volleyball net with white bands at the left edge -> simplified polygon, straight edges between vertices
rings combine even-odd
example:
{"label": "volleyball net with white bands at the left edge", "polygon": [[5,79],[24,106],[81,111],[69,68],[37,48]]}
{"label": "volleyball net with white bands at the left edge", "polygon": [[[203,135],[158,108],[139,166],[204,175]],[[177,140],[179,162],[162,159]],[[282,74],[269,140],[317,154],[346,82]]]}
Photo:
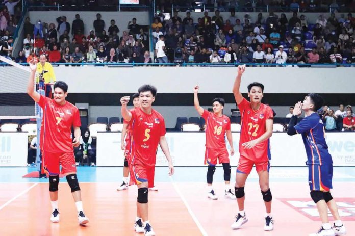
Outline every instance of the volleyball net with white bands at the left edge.
{"label": "volleyball net with white bands at the left edge", "polygon": [[0,62],[0,119],[40,118],[38,105],[27,94],[30,68],[3,56],[0,56]]}

